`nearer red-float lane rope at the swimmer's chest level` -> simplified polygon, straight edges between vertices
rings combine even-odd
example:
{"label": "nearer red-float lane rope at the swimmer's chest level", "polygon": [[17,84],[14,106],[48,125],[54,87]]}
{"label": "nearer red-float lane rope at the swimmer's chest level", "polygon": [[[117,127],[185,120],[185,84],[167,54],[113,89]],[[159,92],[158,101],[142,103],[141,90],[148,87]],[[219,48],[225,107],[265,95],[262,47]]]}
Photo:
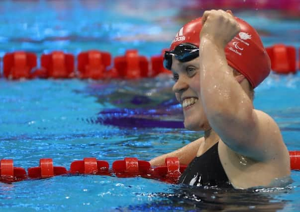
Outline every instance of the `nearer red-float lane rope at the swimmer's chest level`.
{"label": "nearer red-float lane rope at the swimmer's chest level", "polygon": [[[300,171],[300,151],[290,151],[291,170]],[[41,158],[38,167],[14,167],[12,159],[0,160],[0,182],[12,183],[26,179],[43,179],[58,175],[107,175],[115,177],[144,177],[176,184],[187,165],[181,165],[177,157],[168,157],[165,165],[152,167],[148,161],[126,157],[112,163],[111,169],[105,160],[86,157],[73,161],[68,171],[63,166],[54,166],[52,158]]]}

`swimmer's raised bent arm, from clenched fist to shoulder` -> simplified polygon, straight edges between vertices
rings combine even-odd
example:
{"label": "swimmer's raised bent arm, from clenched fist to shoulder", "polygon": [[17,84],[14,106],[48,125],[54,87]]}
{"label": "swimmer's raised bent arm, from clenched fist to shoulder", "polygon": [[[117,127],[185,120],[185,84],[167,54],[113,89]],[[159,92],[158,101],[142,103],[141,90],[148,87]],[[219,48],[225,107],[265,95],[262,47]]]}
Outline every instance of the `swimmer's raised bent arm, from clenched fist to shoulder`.
{"label": "swimmer's raised bent arm, from clenched fist to shoulder", "polygon": [[233,76],[225,58],[226,44],[239,31],[231,13],[204,12],[200,33],[201,100],[210,126],[229,148],[255,160],[268,160],[284,146],[279,128],[271,117],[254,110],[239,84],[243,80]]}

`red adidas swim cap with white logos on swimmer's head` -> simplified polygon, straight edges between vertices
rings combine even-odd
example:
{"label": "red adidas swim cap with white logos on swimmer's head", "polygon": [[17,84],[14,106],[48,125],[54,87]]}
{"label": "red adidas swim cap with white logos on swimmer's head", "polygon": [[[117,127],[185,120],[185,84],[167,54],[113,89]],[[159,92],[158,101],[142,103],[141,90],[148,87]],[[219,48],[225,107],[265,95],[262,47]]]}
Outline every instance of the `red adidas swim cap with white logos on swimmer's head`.
{"label": "red adidas swim cap with white logos on swimmer's head", "polygon": [[[241,30],[225,47],[227,63],[256,87],[269,75],[271,61],[256,30],[246,21],[237,17],[235,19]],[[182,43],[192,43],[199,47],[201,28],[201,18],[185,24],[176,34],[170,51]]]}

